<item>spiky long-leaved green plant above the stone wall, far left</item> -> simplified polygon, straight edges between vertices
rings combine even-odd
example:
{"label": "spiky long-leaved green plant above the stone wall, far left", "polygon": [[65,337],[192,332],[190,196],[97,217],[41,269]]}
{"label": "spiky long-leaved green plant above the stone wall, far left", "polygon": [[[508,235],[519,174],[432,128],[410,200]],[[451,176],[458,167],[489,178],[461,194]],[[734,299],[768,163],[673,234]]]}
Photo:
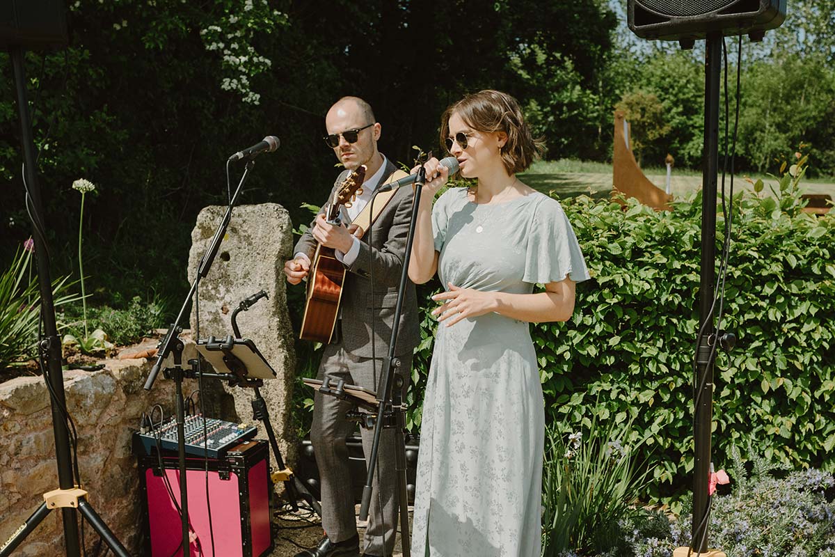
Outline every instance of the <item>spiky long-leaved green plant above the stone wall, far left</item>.
{"label": "spiky long-leaved green plant above the stone wall, far left", "polygon": [[[36,355],[41,295],[31,268],[32,252],[19,250],[0,275],[0,370],[20,367]],[[68,277],[53,281],[53,303],[78,301],[68,294]]]}

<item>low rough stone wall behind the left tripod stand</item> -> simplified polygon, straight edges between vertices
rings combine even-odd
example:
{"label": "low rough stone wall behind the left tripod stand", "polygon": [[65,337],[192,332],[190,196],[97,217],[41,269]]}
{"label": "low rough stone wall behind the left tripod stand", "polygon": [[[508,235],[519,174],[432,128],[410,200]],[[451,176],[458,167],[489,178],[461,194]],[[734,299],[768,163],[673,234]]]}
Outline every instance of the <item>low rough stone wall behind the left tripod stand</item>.
{"label": "low rough stone wall behind the left tripod stand", "polygon": [[[195,357],[187,343],[184,357]],[[89,503],[129,550],[139,555],[139,474],[131,436],[154,403],[166,418],[175,414],[175,383],[160,372],[147,392],[151,362],[105,360],[99,372],[64,372],[67,408],[78,430],[78,468]],[[185,381],[185,396],[195,382]],[[42,377],[17,377],[0,383],[0,543],[58,489],[52,412]],[[79,515],[79,523],[82,521]],[[98,542],[84,526],[88,549]],[[61,513],[53,511],[15,551],[15,556],[64,554]]]}

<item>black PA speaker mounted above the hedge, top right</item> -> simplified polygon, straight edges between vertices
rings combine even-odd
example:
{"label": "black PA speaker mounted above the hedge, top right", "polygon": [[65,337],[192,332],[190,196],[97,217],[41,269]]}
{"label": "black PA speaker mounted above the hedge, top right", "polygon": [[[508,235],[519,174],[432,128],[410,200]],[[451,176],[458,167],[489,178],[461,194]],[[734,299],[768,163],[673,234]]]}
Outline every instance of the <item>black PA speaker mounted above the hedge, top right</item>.
{"label": "black PA speaker mounted above the hedge, top right", "polygon": [[627,0],[626,18],[641,38],[687,42],[722,33],[759,40],[786,18],[786,0]]}

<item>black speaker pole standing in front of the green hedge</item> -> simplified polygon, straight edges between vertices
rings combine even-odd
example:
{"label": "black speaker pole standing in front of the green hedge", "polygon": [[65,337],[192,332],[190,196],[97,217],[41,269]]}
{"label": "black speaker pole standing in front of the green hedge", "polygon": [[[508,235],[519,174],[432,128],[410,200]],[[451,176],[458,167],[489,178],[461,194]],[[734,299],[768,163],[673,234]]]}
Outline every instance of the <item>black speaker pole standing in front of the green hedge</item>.
{"label": "black speaker pole standing in front of the green hedge", "polygon": [[716,175],[719,172],[719,78],[722,33],[709,33],[705,50],[705,143],[702,153],[701,285],[699,331],[696,352],[693,442],[693,525],[691,549],[707,552],[711,473],[711,423],[713,421],[713,357],[716,342],[713,324],[713,288],[716,281]]}

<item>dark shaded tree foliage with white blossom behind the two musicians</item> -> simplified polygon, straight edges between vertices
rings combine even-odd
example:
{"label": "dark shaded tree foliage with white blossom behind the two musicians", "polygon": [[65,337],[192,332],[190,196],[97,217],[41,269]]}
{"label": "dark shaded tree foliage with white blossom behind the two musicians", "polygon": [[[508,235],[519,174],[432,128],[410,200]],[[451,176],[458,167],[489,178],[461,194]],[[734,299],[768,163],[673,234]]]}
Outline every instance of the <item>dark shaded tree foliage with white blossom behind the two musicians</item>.
{"label": "dark shaded tree foliage with white blossom behind the two musicians", "polygon": [[[551,142],[555,156],[593,153],[605,111],[584,99],[599,87],[614,25],[599,0],[76,0],[68,48],[26,57],[53,262],[73,269],[69,185],[87,178],[100,187],[84,215],[85,262],[103,285],[94,297],[147,299],[150,288],[179,298],[195,217],[227,200],[225,158],[279,136],[281,149],[257,160],[241,202],[278,202],[298,221],[301,203],[321,203],[332,183],[324,114],[346,94],[372,104],[393,160],[411,162],[414,144],[441,154],[443,109],[488,87],[541,107],[546,137],[595,132]],[[0,219],[4,236],[23,241],[30,231],[5,53],[0,68],[0,175],[10,183]],[[563,93],[564,84],[573,89]],[[240,168],[232,170],[234,187]],[[4,242],[0,256],[12,250]]]}

